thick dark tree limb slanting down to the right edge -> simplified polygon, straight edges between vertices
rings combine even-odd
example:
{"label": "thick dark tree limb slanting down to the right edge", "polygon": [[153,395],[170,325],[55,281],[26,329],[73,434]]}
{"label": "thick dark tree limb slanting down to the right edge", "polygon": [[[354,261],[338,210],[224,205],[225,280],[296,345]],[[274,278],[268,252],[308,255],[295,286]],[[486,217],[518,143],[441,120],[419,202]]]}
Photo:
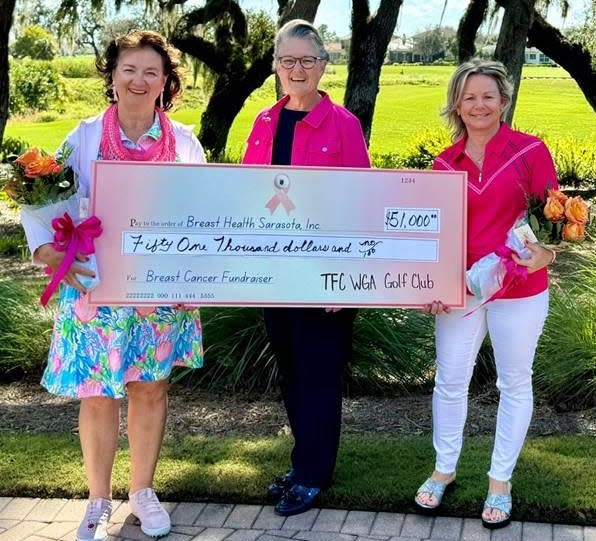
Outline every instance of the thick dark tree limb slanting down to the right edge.
{"label": "thick dark tree limb slanting down to the right edge", "polygon": [[534,13],[534,24],[528,34],[530,45],[569,72],[596,112],[596,59],[579,43],[570,42],[559,30]]}

